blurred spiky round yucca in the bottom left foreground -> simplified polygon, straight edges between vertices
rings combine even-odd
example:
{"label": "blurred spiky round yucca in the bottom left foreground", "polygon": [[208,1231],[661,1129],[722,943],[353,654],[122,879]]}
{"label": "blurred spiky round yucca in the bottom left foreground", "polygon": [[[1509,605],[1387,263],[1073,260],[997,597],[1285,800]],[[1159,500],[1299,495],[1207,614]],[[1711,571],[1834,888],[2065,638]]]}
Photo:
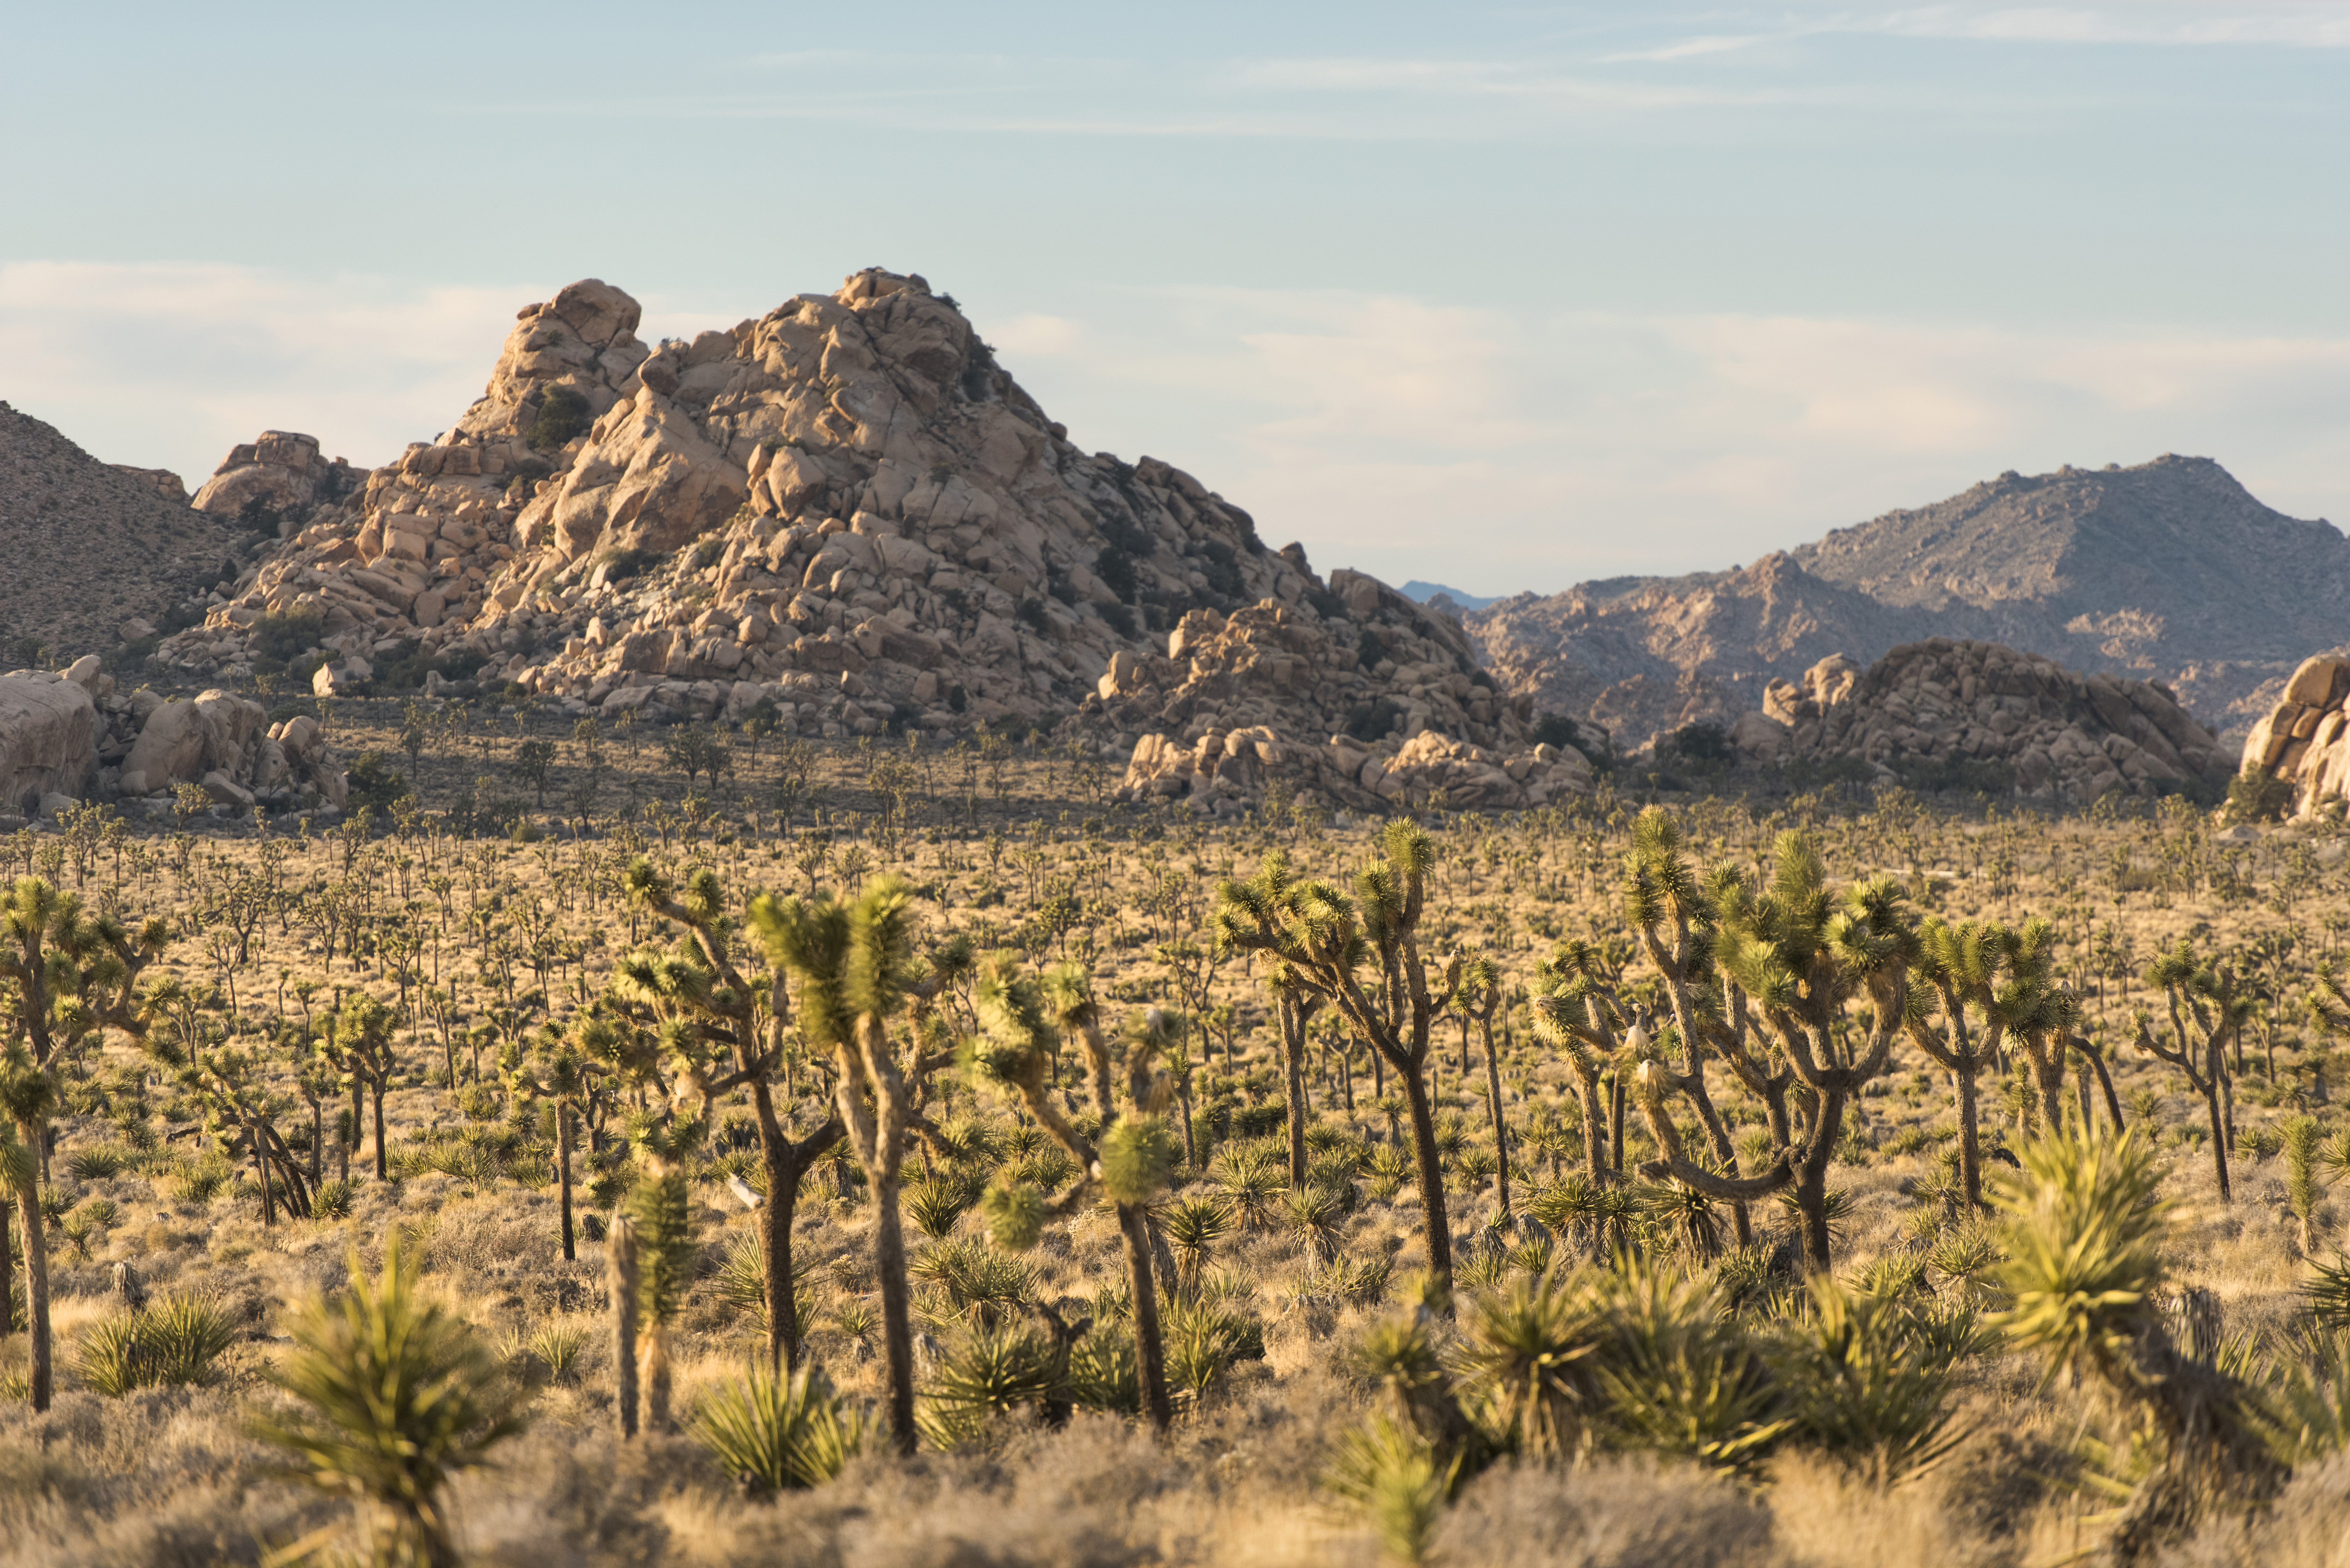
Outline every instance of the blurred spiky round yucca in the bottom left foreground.
{"label": "blurred spiky round yucca in the bottom left foreground", "polygon": [[270,1382],[296,1406],[258,1415],[254,1436],[294,1479],[367,1507],[378,1561],[456,1568],[442,1488],[522,1432],[517,1394],[472,1331],[418,1295],[397,1232],[378,1276],[357,1253],[350,1276],[289,1324],[296,1349]]}

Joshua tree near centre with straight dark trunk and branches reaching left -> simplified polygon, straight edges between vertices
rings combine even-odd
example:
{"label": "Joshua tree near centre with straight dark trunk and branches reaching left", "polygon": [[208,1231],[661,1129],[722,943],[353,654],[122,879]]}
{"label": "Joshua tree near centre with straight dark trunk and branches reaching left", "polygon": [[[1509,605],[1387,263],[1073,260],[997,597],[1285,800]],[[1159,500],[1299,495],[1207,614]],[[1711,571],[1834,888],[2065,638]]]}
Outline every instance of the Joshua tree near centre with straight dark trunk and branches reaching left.
{"label": "Joshua tree near centre with straight dark trunk and branches reaching left", "polygon": [[1410,818],[1386,825],[1384,856],[1354,877],[1354,898],[1328,882],[1292,882],[1288,863],[1267,856],[1250,882],[1217,889],[1217,938],[1243,952],[1288,964],[1297,980],[1330,999],[1347,1025],[1394,1067],[1412,1117],[1419,1204],[1429,1227],[1429,1272],[1452,1279],[1445,1178],[1429,1107],[1429,1030],[1452,999],[1462,961],[1431,976],[1419,957],[1419,914],[1436,846]]}

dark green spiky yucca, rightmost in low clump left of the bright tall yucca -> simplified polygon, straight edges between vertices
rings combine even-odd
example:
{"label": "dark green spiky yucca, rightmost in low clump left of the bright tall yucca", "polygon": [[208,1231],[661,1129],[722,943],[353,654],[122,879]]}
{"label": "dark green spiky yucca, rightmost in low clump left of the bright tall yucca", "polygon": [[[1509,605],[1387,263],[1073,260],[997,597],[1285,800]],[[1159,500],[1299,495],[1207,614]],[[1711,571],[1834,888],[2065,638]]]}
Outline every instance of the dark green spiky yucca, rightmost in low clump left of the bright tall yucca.
{"label": "dark green spiky yucca, rightmost in low clump left of the bright tall yucca", "polygon": [[1793,1436],[1875,1488],[1934,1467],[1962,1436],[1948,1410],[1955,1363],[1920,1347],[1899,1298],[1826,1274],[1810,1288],[1812,1312],[1777,1349]]}

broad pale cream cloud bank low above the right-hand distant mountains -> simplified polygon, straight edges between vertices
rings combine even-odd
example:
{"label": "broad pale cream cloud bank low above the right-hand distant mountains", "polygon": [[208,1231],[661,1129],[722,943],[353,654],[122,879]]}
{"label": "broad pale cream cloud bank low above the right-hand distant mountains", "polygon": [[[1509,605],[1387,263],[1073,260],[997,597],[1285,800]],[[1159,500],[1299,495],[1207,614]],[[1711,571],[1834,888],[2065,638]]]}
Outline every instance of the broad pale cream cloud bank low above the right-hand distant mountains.
{"label": "broad pale cream cloud bank low above the right-hand distant mountains", "polygon": [[1328,292],[1184,292],[1142,315],[1170,331],[1088,322],[1074,353],[1013,369],[1081,440],[1149,440],[1321,564],[1478,592],[1727,567],[2005,468],[2169,449],[2301,515],[2350,498],[2331,414],[2350,339]]}

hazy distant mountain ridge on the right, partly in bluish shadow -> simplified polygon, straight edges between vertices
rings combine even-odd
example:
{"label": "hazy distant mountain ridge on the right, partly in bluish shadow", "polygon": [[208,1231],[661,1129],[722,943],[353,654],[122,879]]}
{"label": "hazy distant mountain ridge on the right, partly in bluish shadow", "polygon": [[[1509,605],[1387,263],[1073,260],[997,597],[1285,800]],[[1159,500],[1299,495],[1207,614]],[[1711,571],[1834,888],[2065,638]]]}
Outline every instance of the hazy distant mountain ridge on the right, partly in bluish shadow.
{"label": "hazy distant mountain ridge on the right, partly in bluish shadow", "polygon": [[1619,745],[1758,710],[1828,654],[2002,642],[2162,679],[2240,733],[2350,625],[2350,541],[2254,501],[2209,458],[1998,480],[1753,567],[1612,578],[1466,616],[1502,686]]}

